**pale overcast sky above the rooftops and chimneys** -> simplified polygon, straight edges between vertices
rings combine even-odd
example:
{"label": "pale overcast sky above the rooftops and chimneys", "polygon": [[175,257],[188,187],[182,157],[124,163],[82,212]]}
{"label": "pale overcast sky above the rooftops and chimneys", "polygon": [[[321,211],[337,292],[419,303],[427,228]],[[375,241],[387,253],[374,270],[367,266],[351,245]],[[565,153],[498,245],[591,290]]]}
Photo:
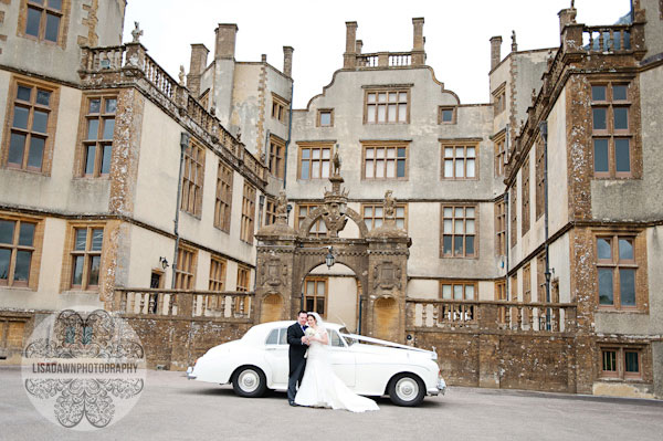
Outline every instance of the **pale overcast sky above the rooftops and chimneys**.
{"label": "pale overcast sky above the rooftops and chimneys", "polygon": [[[261,54],[283,69],[283,46],[295,49],[294,107],[303,108],[333,73],[343,67],[346,21],[357,21],[365,53],[410,51],[412,18],[423,17],[427,64],[462,104],[488,101],[490,42],[502,35],[502,56],[516,31],[518,50],[559,46],[557,12],[570,0],[128,0],[124,41],[131,41],[134,21],[140,42],[177,78],[189,72],[191,43],[214,55],[218,23],[239,28],[235,59],[260,61]],[[577,21],[612,24],[630,11],[630,0],[576,0]]]}

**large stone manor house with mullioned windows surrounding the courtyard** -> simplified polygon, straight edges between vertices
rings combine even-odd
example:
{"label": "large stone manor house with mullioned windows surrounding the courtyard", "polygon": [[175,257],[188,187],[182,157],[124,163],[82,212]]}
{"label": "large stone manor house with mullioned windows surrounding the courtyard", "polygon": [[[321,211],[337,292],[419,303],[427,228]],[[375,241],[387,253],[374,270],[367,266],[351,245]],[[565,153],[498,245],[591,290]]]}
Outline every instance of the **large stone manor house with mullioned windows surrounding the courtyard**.
{"label": "large stone manor house with mullioned windows surrounding the courtyard", "polygon": [[238,61],[235,24],[173,78],[125,0],[0,1],[0,364],[67,307],[170,369],[305,307],[453,385],[662,398],[663,2],[632,3],[561,10],[556,48],[493,36],[480,104],[422,18],[402,52],[347,22],[293,109],[293,48]]}

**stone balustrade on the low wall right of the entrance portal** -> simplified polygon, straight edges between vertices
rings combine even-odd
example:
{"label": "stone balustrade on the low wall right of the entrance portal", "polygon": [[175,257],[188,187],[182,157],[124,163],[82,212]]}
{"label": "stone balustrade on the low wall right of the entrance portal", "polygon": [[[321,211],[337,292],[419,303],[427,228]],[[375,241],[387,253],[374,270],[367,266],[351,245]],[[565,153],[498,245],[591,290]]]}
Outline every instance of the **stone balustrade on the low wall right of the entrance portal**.
{"label": "stone balustrade on the low wall right of the entrance portal", "polygon": [[576,305],[498,301],[407,300],[407,326],[568,332],[576,323]]}

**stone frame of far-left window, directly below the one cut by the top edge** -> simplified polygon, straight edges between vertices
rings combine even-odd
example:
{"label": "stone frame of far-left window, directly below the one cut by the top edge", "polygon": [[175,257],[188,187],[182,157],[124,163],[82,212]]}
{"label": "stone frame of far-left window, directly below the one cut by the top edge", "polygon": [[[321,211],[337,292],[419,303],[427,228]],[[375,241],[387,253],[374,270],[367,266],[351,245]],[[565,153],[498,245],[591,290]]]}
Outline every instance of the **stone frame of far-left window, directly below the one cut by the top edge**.
{"label": "stone frame of far-left window, directly below the one cut by the top edge", "polygon": [[[18,91],[19,86],[29,87],[31,90],[30,103],[18,99]],[[36,105],[36,90],[42,90],[44,92],[50,93],[49,107],[43,105]],[[33,78],[22,76],[22,75],[12,75],[10,81],[10,86],[8,91],[7,98],[7,111],[6,111],[6,122],[4,122],[4,134],[2,136],[2,147],[0,149],[0,159],[1,167],[11,170],[18,170],[23,172],[31,172],[44,176],[51,176],[51,167],[53,161],[53,146],[55,143],[55,128],[57,125],[57,109],[60,104],[60,87],[56,84],[35,81]],[[33,98],[34,96],[34,98]],[[12,98],[13,97],[13,98]],[[29,116],[28,116],[28,128],[13,127],[14,119],[14,109],[15,107],[28,107]],[[33,132],[32,123],[34,109],[39,108],[43,112],[48,112],[48,123],[46,123],[46,132]],[[13,132],[19,132],[21,134],[25,134],[25,140],[23,144],[23,158],[21,160],[21,165],[18,166],[14,162],[9,162],[9,154],[10,154],[10,143],[11,143],[11,134]],[[29,149],[30,141],[32,139],[32,134],[36,134],[39,138],[45,138],[44,147],[42,151],[41,158],[41,169],[36,169],[34,167],[28,166],[29,158]],[[25,149],[28,147],[28,149]]]}

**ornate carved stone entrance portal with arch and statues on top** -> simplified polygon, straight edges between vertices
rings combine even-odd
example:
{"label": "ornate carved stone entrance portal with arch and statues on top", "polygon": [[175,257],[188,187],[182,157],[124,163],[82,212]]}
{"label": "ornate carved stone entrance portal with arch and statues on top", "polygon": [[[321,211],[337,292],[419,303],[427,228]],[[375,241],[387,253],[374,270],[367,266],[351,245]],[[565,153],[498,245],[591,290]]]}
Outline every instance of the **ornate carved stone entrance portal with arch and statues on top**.
{"label": "ornate carved stone entrance portal with arch and statues on top", "polygon": [[[255,313],[261,322],[293,318],[304,304],[304,279],[325,263],[332,246],[335,262],[351,269],[361,286],[358,330],[362,335],[403,342],[408,249],[412,241],[396,225],[396,200],[387,191],[385,222],[369,232],[361,216],[347,206],[348,191],[341,188],[339,165],[335,165],[329,181],[332,191],[325,191],[324,204],[308,213],[298,231],[287,224],[287,199],[282,191],[276,222],[257,232]],[[327,228],[325,238],[309,235],[318,219]],[[357,224],[359,238],[338,237],[348,219]],[[335,322],[334,317],[329,321]]]}

